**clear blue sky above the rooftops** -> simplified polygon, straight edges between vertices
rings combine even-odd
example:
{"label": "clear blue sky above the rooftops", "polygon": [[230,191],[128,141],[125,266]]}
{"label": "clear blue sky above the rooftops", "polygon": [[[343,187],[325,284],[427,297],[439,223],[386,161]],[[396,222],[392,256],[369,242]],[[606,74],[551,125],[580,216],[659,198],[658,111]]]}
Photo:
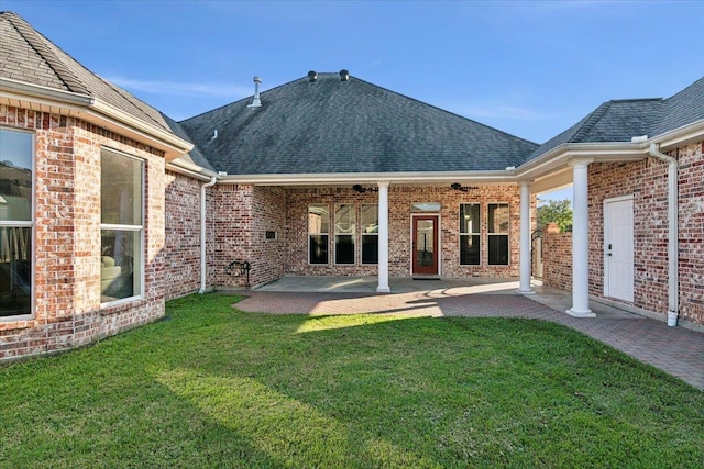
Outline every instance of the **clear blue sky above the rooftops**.
{"label": "clear blue sky above the rooftops", "polygon": [[704,76],[700,1],[15,1],[96,74],[182,120],[308,70],[542,143],[609,99]]}

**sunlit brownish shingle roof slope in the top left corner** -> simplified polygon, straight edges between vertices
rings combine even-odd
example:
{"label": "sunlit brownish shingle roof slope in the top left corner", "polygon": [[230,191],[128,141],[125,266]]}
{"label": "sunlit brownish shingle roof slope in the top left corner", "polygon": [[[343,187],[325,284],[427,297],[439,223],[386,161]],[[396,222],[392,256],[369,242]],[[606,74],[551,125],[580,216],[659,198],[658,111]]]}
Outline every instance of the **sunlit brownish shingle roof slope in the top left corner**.
{"label": "sunlit brownish shingle roof slope in the top left corner", "polygon": [[90,96],[170,130],[156,109],[88,70],[12,12],[0,12],[0,77]]}

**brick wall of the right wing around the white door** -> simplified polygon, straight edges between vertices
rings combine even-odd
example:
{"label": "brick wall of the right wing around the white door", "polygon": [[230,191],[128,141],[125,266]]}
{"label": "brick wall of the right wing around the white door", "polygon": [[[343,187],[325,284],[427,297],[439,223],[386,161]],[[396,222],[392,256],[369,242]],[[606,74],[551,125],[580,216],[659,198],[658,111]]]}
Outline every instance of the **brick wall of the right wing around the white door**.
{"label": "brick wall of the right wing around the white door", "polygon": [[[704,324],[704,157],[700,142],[671,152],[679,160],[680,314]],[[668,311],[668,164],[590,165],[590,294],[604,295],[604,200],[634,196],[634,305]]]}

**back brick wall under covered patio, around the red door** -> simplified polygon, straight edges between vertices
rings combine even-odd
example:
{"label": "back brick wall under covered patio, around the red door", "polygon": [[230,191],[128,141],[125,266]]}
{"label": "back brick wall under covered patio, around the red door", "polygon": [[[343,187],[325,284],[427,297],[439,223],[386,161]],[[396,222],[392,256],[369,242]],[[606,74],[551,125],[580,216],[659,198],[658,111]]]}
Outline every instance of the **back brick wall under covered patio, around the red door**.
{"label": "back brick wall under covered patio, around the red door", "polygon": [[[334,235],[330,234],[330,264],[308,265],[308,205],[310,203],[328,203],[333,210],[336,203],[353,203],[356,205],[356,220],[360,226],[362,203],[377,203],[378,194],[374,192],[358,193],[352,188],[320,187],[312,189],[290,189],[288,191],[288,230],[286,273],[305,276],[374,276],[376,266],[334,265]],[[444,277],[516,277],[518,276],[519,235],[520,235],[520,189],[518,186],[482,186],[469,192],[460,192],[449,187],[398,187],[392,186],[388,194],[389,203],[389,275],[392,277],[410,276],[410,205],[413,202],[440,202],[440,268]],[[459,215],[460,203],[480,203],[482,210],[482,264],[480,266],[461,266],[459,253]],[[510,264],[508,266],[488,266],[487,259],[487,222],[486,205],[488,203],[508,203],[512,227],[509,232]],[[535,221],[535,198],[531,205]],[[359,227],[361,230],[361,226]],[[358,233],[358,243],[361,231]],[[359,247],[358,247],[359,252]]]}

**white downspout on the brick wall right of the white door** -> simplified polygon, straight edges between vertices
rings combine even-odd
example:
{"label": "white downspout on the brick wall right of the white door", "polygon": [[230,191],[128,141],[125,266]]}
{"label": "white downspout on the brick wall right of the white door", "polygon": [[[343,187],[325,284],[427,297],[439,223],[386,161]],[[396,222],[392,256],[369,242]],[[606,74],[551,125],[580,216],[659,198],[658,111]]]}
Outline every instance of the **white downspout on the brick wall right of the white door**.
{"label": "white downspout on the brick wall right of the white door", "polygon": [[650,144],[650,156],[668,161],[668,325],[678,325],[680,266],[678,239],[678,160],[660,152],[660,144]]}

